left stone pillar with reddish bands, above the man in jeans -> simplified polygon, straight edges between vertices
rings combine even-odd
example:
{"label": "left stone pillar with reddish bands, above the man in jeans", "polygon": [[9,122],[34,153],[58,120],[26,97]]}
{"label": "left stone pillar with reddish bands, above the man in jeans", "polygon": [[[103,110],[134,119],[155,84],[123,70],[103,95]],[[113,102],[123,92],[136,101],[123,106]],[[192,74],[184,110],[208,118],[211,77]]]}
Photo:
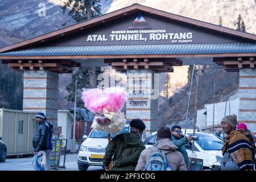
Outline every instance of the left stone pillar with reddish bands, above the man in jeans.
{"label": "left stone pillar with reddish bands, above the man in jeans", "polygon": [[23,110],[42,112],[57,131],[59,74],[24,71]]}

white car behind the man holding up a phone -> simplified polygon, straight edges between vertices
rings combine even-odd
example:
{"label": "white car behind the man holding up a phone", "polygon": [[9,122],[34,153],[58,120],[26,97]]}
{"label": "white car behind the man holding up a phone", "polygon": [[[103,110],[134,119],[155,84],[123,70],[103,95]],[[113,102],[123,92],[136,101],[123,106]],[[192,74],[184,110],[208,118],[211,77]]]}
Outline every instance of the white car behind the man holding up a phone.
{"label": "white car behind the man holding up a phone", "polygon": [[[186,136],[193,133],[187,133]],[[222,145],[223,141],[214,137],[209,133],[196,132],[199,137],[195,140],[194,153],[192,154],[192,146],[185,144],[189,158],[203,159],[204,169],[214,165],[220,165],[222,159]],[[156,142],[156,132],[152,133],[150,137],[144,140],[146,148],[152,146]]]}

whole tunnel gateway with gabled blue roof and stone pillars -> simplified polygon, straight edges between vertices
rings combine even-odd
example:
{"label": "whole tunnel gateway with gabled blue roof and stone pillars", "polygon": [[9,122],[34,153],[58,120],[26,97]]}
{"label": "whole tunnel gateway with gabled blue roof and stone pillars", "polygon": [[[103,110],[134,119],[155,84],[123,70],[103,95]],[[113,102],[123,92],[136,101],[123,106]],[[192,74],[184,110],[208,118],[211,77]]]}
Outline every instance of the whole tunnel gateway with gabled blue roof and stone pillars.
{"label": "whole tunnel gateway with gabled blue roof and stone pillars", "polygon": [[158,73],[217,64],[240,72],[238,119],[256,132],[256,35],[246,32],[133,4],[2,47],[0,59],[24,72],[23,110],[44,111],[56,126],[58,73],[80,66],[125,72],[126,119],[141,118],[147,135],[158,129]]}

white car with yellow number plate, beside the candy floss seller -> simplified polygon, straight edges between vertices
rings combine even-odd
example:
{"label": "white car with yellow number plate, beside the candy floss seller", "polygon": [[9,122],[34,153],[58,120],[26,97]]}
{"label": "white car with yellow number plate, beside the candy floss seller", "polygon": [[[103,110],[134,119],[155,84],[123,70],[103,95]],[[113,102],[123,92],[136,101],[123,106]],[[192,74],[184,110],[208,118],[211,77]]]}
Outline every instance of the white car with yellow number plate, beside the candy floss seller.
{"label": "white car with yellow number plate, beside the candy floss seller", "polygon": [[[129,129],[129,125],[126,125],[119,134],[129,132]],[[142,141],[146,139],[145,134],[143,133]],[[114,136],[114,134],[110,135],[111,138],[114,138]],[[93,129],[89,137],[85,138],[80,146],[77,160],[80,171],[86,171],[89,166],[103,166],[105,148],[108,145],[108,134],[106,131],[96,131]]]}

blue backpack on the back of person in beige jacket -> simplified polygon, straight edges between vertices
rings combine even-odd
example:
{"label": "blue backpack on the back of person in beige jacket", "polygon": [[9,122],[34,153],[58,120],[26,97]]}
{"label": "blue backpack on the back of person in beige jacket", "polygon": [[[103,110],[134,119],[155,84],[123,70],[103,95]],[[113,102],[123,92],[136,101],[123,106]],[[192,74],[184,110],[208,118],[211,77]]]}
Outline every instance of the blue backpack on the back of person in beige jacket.
{"label": "blue backpack on the back of person in beige jacket", "polygon": [[158,150],[152,152],[147,160],[146,165],[144,166],[144,171],[166,171],[166,154],[168,154],[169,152],[171,151],[163,152],[161,150]]}

